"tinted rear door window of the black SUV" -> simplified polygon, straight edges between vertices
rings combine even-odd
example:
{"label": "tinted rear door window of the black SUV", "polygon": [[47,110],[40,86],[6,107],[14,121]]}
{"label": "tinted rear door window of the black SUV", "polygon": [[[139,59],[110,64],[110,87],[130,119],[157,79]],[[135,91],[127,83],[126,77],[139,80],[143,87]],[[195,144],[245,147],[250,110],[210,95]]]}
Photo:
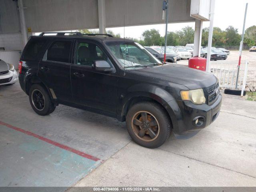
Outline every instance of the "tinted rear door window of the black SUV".
{"label": "tinted rear door window of the black SUV", "polygon": [[71,40],[54,41],[46,50],[43,60],[69,63],[71,44]]}

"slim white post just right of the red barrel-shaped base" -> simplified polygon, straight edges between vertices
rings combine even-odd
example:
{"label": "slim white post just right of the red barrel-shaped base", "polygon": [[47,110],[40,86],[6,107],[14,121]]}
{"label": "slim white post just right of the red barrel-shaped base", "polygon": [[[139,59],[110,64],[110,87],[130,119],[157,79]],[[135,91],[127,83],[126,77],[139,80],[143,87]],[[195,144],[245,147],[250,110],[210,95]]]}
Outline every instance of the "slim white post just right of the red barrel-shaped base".
{"label": "slim white post just right of the red barrel-shaped base", "polygon": [[208,36],[208,48],[207,48],[207,61],[206,61],[206,72],[211,72],[211,52],[212,52],[212,33],[213,33],[213,19],[214,19],[215,0],[211,0],[211,11],[210,11],[210,27]]}

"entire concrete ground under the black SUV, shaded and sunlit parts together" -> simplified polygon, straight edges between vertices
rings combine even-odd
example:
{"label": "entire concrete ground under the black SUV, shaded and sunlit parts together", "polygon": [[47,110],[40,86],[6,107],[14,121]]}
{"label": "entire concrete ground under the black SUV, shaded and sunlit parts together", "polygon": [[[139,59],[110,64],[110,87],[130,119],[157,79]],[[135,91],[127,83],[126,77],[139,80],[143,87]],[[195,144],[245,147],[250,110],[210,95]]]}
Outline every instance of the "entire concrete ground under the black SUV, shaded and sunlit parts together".
{"label": "entire concrete ground under the black SUV, shaded and sunlit parts together", "polygon": [[38,116],[18,83],[0,86],[0,122],[0,186],[256,186],[256,102],[239,97],[224,95],[193,138],[157,149],[106,116],[63,105]]}

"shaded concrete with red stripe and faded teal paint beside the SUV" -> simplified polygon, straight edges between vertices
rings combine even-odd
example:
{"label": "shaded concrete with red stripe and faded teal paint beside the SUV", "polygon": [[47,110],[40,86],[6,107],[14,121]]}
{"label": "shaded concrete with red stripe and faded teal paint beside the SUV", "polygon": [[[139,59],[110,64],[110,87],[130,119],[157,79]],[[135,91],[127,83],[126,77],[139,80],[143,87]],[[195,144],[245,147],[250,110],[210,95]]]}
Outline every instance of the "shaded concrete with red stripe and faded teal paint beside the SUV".
{"label": "shaded concrete with red stripe and faded teal paint beside the SUV", "polygon": [[114,118],[63,105],[37,115],[18,83],[0,86],[0,132],[0,186],[71,186],[130,142]]}

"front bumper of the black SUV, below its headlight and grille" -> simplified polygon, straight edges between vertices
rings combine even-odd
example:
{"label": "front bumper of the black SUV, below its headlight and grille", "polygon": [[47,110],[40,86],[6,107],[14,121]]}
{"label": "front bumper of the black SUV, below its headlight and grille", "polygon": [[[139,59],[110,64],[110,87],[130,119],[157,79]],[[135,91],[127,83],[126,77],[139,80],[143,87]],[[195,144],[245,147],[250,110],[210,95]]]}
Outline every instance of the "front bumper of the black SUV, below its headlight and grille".
{"label": "front bumper of the black SUV, below its headlight and grille", "polygon": [[[210,125],[218,117],[221,103],[221,95],[219,95],[217,100],[210,106],[208,104],[196,105],[190,101],[182,100],[172,100],[168,102],[170,107],[176,106],[173,110],[175,117],[171,117],[174,135],[177,138],[190,138],[206,126]],[[205,118],[204,123],[200,126],[194,125],[194,118],[198,116]]]}

